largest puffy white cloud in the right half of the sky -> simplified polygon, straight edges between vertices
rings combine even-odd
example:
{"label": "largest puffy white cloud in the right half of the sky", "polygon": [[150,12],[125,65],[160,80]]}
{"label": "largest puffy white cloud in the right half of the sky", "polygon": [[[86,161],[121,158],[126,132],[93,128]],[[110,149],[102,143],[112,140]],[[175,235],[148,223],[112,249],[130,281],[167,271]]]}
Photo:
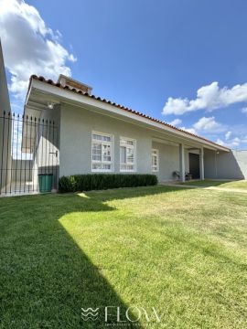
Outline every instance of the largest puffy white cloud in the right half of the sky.
{"label": "largest puffy white cloud in the right half of the sky", "polygon": [[247,101],[247,83],[233,86],[231,89],[228,87],[220,89],[219,83],[215,81],[201,87],[197,91],[195,100],[169,97],[162,113],[180,115],[188,111],[212,111],[242,101]]}

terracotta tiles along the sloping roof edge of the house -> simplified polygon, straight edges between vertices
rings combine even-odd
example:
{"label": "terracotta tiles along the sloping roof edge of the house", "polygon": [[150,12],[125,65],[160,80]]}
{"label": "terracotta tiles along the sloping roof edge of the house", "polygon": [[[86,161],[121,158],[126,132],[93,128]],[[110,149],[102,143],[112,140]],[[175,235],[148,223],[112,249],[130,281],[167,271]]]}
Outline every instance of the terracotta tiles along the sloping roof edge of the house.
{"label": "terracotta tiles along the sloping roof edge of the house", "polygon": [[[94,100],[97,100],[97,101],[103,101],[103,102],[105,102],[105,103],[111,104],[111,105],[113,105],[114,107],[117,107],[117,108],[122,109],[122,110],[124,110],[124,111],[132,112],[132,113],[134,113],[134,114],[136,114],[136,115],[138,115],[138,116],[141,116],[141,117],[143,117],[143,118],[145,118],[145,119],[148,119],[148,120],[150,120],[150,121],[152,121],[152,122],[157,122],[157,123],[163,124],[163,125],[165,125],[166,127],[169,127],[169,128],[171,128],[171,129],[174,129],[175,131],[178,131],[178,132],[181,132],[181,133],[187,133],[189,136],[197,137],[197,138],[199,138],[199,139],[202,140],[202,141],[209,142],[209,143],[212,143],[212,144],[214,144],[214,145],[216,145],[216,146],[223,147],[223,148],[225,148],[226,150],[230,150],[228,147],[222,146],[222,145],[220,145],[220,144],[218,144],[218,143],[214,143],[214,142],[210,141],[210,140],[207,139],[207,138],[201,137],[201,136],[199,136],[199,135],[197,135],[197,134],[194,134],[194,133],[189,133],[189,132],[187,132],[187,131],[185,131],[185,130],[183,130],[183,129],[177,128],[177,127],[175,127],[175,126],[173,126],[173,125],[171,125],[171,124],[168,124],[168,123],[166,123],[166,122],[163,122],[163,121],[161,121],[161,120],[158,120],[158,119],[152,118],[152,117],[150,117],[149,115],[146,115],[146,114],[141,113],[141,112],[139,112],[139,111],[131,110],[131,109],[129,109],[129,108],[127,108],[127,107],[124,107],[123,105],[117,104],[117,103],[115,103],[115,102],[107,101],[107,100],[105,100],[105,99],[102,99],[101,97],[96,97],[95,95],[90,95],[89,93],[84,92],[84,91],[82,91],[82,90],[76,90],[76,89],[74,89],[74,88],[70,88],[69,86],[65,86],[65,87],[63,87],[60,83],[56,83],[56,82],[54,82],[53,80],[46,80],[44,77],[38,77],[38,76],[36,76],[36,75],[32,75],[32,76],[30,77],[30,82],[31,82],[32,79],[33,79],[33,80],[39,80],[39,81],[42,81],[42,82],[46,82],[46,83],[48,83],[48,84],[50,84],[50,85],[52,85],[52,86],[55,86],[55,87],[58,87],[58,88],[61,88],[61,89],[64,89],[64,90],[70,90],[70,91],[72,91],[72,92],[75,92],[75,93],[81,94],[81,95],[83,95],[83,96],[90,97],[91,99],[94,99]],[[28,90],[29,90],[29,88],[30,88],[30,83],[29,83]]]}

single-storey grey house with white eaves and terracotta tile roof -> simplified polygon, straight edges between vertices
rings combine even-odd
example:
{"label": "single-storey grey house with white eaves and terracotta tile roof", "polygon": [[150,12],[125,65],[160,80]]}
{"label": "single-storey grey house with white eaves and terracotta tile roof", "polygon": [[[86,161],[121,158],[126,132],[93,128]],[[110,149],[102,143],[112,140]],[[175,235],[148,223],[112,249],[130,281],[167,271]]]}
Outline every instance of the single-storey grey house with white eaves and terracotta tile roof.
{"label": "single-storey grey house with white eaves and terracotta tile roof", "polygon": [[[186,173],[200,179],[246,177],[246,168],[243,173],[229,148],[95,97],[91,91],[63,75],[58,82],[30,78],[25,115],[57,122],[58,176],[152,173],[162,182],[174,179],[177,171],[182,181]],[[30,136],[24,136],[24,143],[26,138]]]}

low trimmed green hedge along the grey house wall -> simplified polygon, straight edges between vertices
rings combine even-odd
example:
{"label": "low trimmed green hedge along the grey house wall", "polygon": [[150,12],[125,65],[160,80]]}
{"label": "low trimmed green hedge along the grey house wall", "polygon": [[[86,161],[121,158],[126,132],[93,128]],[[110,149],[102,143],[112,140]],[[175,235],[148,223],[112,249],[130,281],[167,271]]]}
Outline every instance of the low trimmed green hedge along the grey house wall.
{"label": "low trimmed green hedge along the grey house wall", "polygon": [[88,174],[59,178],[59,192],[79,192],[118,187],[155,186],[156,175],[141,174]]}

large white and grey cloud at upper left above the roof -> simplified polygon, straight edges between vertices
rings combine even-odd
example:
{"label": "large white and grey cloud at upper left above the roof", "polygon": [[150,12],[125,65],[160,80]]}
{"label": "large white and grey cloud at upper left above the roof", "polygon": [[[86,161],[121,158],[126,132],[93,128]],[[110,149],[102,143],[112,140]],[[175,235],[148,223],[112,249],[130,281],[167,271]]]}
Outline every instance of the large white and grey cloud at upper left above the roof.
{"label": "large white and grey cloud at upper left above the roof", "polygon": [[67,62],[76,58],[61,46],[59,31],[48,28],[34,6],[24,0],[0,0],[0,13],[5,66],[16,98],[24,98],[32,74],[53,80],[60,73],[71,75]]}

